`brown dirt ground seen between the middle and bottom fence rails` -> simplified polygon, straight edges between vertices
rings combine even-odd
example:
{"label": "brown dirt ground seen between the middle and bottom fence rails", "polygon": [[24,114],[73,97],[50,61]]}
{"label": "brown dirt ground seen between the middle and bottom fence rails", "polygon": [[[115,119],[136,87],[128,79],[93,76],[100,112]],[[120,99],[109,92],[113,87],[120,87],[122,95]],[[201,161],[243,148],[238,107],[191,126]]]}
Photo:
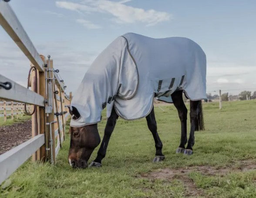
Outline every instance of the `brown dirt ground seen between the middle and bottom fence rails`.
{"label": "brown dirt ground seen between the middle and bottom fence rails", "polygon": [[31,138],[31,120],[0,126],[0,154]]}

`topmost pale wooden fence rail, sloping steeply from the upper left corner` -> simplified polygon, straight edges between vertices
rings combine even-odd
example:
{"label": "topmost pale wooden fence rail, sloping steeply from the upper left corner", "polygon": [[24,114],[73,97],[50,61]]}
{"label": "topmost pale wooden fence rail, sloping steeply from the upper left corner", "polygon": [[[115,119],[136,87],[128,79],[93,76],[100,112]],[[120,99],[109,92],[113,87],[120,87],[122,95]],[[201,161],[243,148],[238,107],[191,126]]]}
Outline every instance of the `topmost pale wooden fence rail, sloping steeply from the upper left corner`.
{"label": "topmost pale wooden fence rail, sloping steeply from the upper left corner", "polygon": [[3,0],[0,1],[0,24],[37,70],[43,71],[43,61],[37,53],[36,48],[9,3]]}

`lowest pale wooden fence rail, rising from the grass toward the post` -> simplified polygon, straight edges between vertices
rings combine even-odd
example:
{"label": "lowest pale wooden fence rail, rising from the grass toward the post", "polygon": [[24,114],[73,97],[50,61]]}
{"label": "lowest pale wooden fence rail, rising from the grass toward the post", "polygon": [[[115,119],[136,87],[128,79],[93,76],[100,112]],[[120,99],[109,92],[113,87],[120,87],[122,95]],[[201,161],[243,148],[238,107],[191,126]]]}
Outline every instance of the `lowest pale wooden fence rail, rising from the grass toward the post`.
{"label": "lowest pale wooden fence rail, rising from the grass toward the post", "polygon": [[20,167],[38,148],[44,144],[40,134],[0,155],[0,184]]}

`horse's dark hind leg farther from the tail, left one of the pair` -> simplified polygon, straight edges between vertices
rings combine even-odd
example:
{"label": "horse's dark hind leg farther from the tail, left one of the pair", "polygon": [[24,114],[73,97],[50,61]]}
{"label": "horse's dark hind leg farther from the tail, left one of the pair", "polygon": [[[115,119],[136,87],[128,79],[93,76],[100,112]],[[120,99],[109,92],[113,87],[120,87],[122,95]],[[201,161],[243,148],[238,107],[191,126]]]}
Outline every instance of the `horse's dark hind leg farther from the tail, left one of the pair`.
{"label": "horse's dark hind leg farther from the tail, left one of the pair", "polygon": [[184,153],[185,144],[187,143],[187,114],[188,110],[182,99],[183,91],[175,91],[172,94],[172,101],[176,109],[178,110],[179,119],[181,122],[181,138],[179,147],[176,150],[176,153]]}

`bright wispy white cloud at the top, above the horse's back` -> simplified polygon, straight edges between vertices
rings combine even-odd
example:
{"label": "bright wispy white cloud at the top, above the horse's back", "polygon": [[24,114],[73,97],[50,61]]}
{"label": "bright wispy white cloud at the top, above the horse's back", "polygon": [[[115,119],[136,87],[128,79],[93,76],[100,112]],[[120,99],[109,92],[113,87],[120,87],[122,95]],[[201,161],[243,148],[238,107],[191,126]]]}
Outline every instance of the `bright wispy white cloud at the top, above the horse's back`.
{"label": "bright wispy white cloud at the top, above the horse's back", "polygon": [[171,14],[156,10],[144,10],[137,7],[127,6],[121,2],[113,2],[110,0],[83,0],[82,3],[71,3],[68,1],[56,1],[57,7],[73,10],[81,13],[108,13],[114,18],[112,21],[116,23],[145,23],[147,26],[153,26],[162,21],[171,19]]}

